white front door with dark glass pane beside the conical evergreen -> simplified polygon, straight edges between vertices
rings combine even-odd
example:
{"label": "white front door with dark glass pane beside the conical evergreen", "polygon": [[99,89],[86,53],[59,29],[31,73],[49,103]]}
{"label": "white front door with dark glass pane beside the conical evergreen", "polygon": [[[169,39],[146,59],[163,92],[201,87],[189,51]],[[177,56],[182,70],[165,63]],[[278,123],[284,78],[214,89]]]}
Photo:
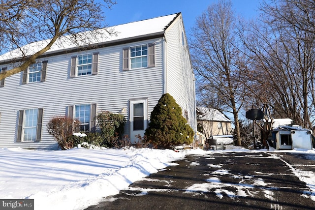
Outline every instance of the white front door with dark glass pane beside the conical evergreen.
{"label": "white front door with dark glass pane beside the conical evergreen", "polygon": [[147,99],[130,101],[130,142],[138,142],[140,135],[142,138],[148,124]]}

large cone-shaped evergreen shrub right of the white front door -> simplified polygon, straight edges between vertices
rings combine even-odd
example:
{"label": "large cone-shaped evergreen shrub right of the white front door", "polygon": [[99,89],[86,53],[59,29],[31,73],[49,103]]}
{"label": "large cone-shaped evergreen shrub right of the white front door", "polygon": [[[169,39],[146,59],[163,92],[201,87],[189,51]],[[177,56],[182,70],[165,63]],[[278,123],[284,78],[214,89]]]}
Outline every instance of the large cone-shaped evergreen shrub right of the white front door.
{"label": "large cone-shaped evergreen shrub right of the white front door", "polygon": [[193,130],[182,115],[181,107],[168,93],[163,94],[151,112],[151,121],[146,129],[147,139],[159,147],[171,149],[191,144]]}

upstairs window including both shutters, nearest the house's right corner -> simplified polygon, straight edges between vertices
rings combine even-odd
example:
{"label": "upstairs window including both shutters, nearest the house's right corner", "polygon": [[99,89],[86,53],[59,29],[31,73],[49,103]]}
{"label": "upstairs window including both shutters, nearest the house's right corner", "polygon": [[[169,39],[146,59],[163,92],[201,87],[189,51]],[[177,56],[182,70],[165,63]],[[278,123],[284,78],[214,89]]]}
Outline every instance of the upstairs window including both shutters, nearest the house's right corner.
{"label": "upstairs window including both shutters, nearest the house's right corner", "polygon": [[123,70],[155,66],[155,44],[132,46],[123,50]]}

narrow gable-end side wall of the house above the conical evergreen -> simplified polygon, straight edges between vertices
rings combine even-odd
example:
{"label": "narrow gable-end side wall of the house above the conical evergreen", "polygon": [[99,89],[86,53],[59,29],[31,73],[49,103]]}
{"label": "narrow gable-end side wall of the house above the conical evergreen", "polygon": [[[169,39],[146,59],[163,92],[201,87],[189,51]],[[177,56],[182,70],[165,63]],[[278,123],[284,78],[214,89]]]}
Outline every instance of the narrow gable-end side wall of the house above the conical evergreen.
{"label": "narrow gable-end side wall of the house above the conical evergreen", "polygon": [[196,129],[194,74],[189,57],[186,33],[180,15],[165,31],[166,40],[166,92],[171,94],[183,109],[192,129]]}

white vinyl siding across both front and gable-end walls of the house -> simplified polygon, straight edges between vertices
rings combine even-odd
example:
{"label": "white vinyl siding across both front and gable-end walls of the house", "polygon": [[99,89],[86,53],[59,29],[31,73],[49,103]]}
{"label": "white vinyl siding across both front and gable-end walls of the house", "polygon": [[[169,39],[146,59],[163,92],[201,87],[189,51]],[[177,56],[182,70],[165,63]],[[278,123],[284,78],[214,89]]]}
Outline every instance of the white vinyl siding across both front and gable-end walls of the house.
{"label": "white vinyl siding across both front and gable-end walls of the house", "polygon": [[[79,104],[91,105],[89,122],[91,129],[95,129],[96,113],[110,111],[125,115],[128,121],[125,124],[124,134],[130,136],[130,101],[145,99],[147,120],[150,120],[150,114],[158,103],[158,99],[165,93],[164,90],[171,90],[170,94],[176,96],[177,102],[183,110],[188,111],[189,118],[191,118],[189,106],[191,105],[190,100],[193,100],[193,95],[188,90],[182,90],[191,86],[191,82],[188,81],[191,75],[188,74],[189,71],[186,71],[187,62],[181,63],[183,55],[178,55],[178,53],[183,52],[169,52],[174,50],[173,45],[179,44],[182,47],[178,32],[177,36],[174,37],[174,39],[177,38],[174,44],[170,43],[174,42],[173,37],[168,35],[168,33],[173,33],[173,27],[179,31],[179,23],[179,21],[175,21],[165,31],[167,43],[169,43],[167,47],[165,46],[167,45],[165,39],[158,37],[147,40],[137,39],[133,42],[124,41],[117,45],[104,45],[101,48],[90,50],[84,49],[81,52],[67,52],[54,56],[47,54],[45,57],[47,74],[45,74],[44,83],[34,82],[21,85],[21,81],[22,83],[24,81],[22,74],[14,74],[6,78],[5,86],[0,88],[1,96],[5,98],[5,100],[0,100],[0,147],[58,149],[58,143],[48,134],[46,125],[55,116],[67,116],[71,112],[71,108],[71,115],[74,117],[74,106]],[[131,46],[139,45],[148,45],[148,67],[129,70],[129,49]],[[125,51],[124,49],[128,50]],[[127,52],[125,55],[127,59],[123,55],[124,52]],[[93,76],[77,76],[77,56],[91,53],[93,54]],[[171,65],[166,65],[166,55],[169,57],[167,62],[170,62]],[[188,57],[185,55],[183,58],[187,59]],[[126,66],[124,60],[127,61]],[[44,64],[44,61],[42,62]],[[174,66],[176,69],[171,69]],[[6,67],[11,69],[13,65]],[[127,70],[124,67],[127,67]],[[179,70],[182,67],[185,67],[183,72]],[[185,76],[187,76],[187,83],[184,83],[182,79]],[[27,83],[27,80],[25,82]],[[172,84],[174,82],[176,84]],[[12,94],[12,90],[14,90],[14,94]],[[184,98],[181,99],[180,97]],[[42,123],[37,124],[37,127],[41,126],[41,128],[37,129],[36,135],[37,137],[40,136],[40,141],[36,137],[35,142],[21,142],[18,140],[18,136],[21,136],[18,128],[23,124],[17,125],[19,113],[25,109],[36,107],[43,107],[45,110],[44,115],[38,115],[42,116],[42,119],[38,120]],[[194,109],[193,104],[191,109]],[[146,124],[147,122],[144,122],[144,125]],[[42,132],[38,133],[39,130]]]}

